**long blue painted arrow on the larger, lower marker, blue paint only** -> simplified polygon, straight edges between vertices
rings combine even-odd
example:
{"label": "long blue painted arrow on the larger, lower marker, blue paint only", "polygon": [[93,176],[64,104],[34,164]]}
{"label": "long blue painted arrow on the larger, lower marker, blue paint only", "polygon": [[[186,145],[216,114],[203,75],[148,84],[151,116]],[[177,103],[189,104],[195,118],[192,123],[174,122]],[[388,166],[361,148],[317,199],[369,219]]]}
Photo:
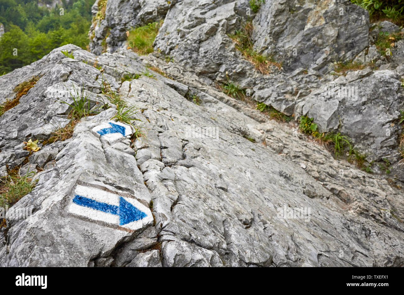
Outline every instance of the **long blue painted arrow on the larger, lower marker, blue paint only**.
{"label": "long blue painted arrow on the larger, lower marker, blue paint only", "polygon": [[83,197],[82,195],[74,195],[73,203],[102,212],[119,215],[119,225],[124,225],[132,221],[140,220],[147,216],[147,214],[137,209],[123,197],[120,197],[119,199],[119,206],[98,202],[93,199]]}

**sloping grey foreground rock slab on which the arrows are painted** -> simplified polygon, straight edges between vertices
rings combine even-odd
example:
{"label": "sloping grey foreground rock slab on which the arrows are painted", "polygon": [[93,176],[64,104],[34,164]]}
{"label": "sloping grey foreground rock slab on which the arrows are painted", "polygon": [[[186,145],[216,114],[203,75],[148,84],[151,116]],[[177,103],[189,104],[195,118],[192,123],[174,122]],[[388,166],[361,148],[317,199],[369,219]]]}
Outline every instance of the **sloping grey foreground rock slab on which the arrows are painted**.
{"label": "sloping grey foreground rock slab on which the arrows are painted", "polygon": [[[66,49],[74,59],[60,53]],[[17,70],[42,77],[24,96],[36,102],[29,113],[22,101],[0,117],[2,122],[18,118],[21,126],[26,122],[13,138],[5,137],[9,127],[1,125],[2,154],[15,154],[12,142],[36,138],[35,130],[46,126],[39,120],[41,103],[60,108],[55,115],[65,113],[66,105],[48,96],[50,89],[84,85],[94,101],[101,100],[95,86],[101,72],[81,62],[96,58],[121,98],[142,110],[136,118],[147,138],[131,145],[126,133],[97,135],[116,113],[110,105],[83,118],[72,139],[51,143],[57,149],[54,165],[38,173],[34,190],[13,206],[33,208],[32,216],[6,216],[2,266],[403,263],[401,191],[382,177],[333,160],[293,125],[263,118],[179,66],[171,67],[174,80],[156,73],[120,83],[125,71],[164,63],[152,56],[142,60],[122,51],[97,57],[67,45]],[[1,83],[16,72],[2,76]],[[188,91],[200,97],[200,106],[184,97]],[[120,195],[147,217],[113,226],[91,215],[93,209],[80,211],[77,195]]]}

